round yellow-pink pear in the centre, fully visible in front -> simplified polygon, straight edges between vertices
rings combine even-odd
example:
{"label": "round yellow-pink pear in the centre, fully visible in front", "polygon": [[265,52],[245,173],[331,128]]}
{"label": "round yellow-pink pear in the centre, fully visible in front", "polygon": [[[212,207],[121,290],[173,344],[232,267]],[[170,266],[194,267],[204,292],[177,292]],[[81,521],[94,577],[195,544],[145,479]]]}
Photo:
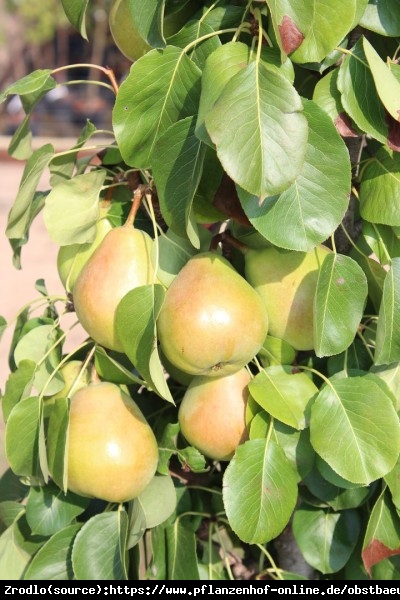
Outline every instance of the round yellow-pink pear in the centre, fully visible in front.
{"label": "round yellow-pink pear in the centre, fully visible in front", "polygon": [[157,319],[161,351],[192,375],[238,371],[258,353],[267,331],[260,296],[213,251],[189,259],[167,289]]}

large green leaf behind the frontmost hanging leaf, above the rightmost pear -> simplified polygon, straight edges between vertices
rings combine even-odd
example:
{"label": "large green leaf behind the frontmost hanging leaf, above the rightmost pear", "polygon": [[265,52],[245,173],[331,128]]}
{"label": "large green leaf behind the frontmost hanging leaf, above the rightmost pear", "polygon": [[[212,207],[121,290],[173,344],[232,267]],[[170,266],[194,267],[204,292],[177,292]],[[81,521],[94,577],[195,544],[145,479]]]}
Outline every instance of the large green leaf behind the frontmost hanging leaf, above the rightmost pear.
{"label": "large green leaf behind the frontmost hanging leaf, above the rightmost pear", "polygon": [[267,240],[282,248],[310,251],[341,222],[348,206],[351,172],[348,150],[329,116],[314,102],[303,103],[309,135],[295,181],[261,204],[244,190],[238,193],[251,224]]}

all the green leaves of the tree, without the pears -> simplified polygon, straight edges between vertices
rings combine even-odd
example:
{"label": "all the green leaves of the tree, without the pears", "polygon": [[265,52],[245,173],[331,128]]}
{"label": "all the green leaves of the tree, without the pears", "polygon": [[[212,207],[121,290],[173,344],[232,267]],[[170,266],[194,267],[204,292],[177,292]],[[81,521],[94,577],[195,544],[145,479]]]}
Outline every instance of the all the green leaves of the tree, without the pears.
{"label": "all the green leaves of the tree, without the pears", "polygon": [[[91,2],[62,4],[86,36]],[[115,92],[106,141],[88,121],[69,151],[32,151],[29,119],[59,85],[56,71],[0,94],[19,95],[26,112],[9,149],[26,160],[6,229],[15,266],[40,211],[61,247],[90,244],[100,204],[118,226],[139,191],[135,226],[153,238],[161,280],[118,306],[123,353],[88,338],[65,354],[73,295],[53,297],[43,282],[15,323],[1,320],[2,330],[14,326],[2,397],[2,578],[296,578],[276,544],[291,525],[307,576],[398,579],[398,0],[204,0],[167,39],[173,1],[129,4],[151,49],[120,84],[98,65]],[[44,171],[47,193],[37,191]],[[211,237],[242,276],[239,247],[332,250],[313,300],[314,349],[267,337],[248,365],[249,439],[228,462],[180,434],[188,383],[163,367],[156,339],[164,288]],[[70,360],[128,390],[156,434],[158,473],[124,504],[61,491],[64,444],[49,475],[49,413],[65,443],[69,402],[48,399]]]}

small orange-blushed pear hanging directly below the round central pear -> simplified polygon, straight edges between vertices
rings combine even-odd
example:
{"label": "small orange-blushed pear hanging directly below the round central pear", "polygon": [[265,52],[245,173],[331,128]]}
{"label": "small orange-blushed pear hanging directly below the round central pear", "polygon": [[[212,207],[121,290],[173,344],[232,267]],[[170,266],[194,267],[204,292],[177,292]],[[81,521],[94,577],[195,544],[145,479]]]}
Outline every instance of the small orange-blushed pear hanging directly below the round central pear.
{"label": "small orange-blushed pear hanging directly below the round central pear", "polygon": [[214,460],[230,460],[247,440],[250,375],[243,368],[225,377],[194,377],[179,406],[182,435]]}

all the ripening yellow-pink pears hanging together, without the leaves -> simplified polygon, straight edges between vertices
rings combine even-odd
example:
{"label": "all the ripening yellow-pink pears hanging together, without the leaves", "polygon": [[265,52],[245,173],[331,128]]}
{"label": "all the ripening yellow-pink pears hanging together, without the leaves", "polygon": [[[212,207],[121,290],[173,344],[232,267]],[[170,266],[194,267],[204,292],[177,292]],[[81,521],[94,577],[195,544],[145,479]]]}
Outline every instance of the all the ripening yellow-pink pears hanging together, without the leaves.
{"label": "all the ripening yellow-pink pears hanging together, without the leaves", "polygon": [[[329,250],[243,247],[242,275],[219,250],[207,249],[166,281],[154,259],[159,240],[135,227],[139,205],[134,200],[126,222],[114,227],[107,211],[100,211],[92,244],[67,247],[67,253],[61,247],[60,278],[85,331],[119,353],[126,350],[116,327],[119,303],[140,286],[162,286],[155,338],[166,372],[185,385],[181,433],[205,457],[229,461],[248,439],[249,365],[262,353],[267,334],[293,350],[313,348],[313,298]],[[126,391],[107,381],[90,382],[81,363],[70,361],[62,374],[66,388],[52,400],[71,396],[68,489],[110,502],[135,498],[157,470],[151,427]],[[50,468],[56,447],[50,412]]]}

